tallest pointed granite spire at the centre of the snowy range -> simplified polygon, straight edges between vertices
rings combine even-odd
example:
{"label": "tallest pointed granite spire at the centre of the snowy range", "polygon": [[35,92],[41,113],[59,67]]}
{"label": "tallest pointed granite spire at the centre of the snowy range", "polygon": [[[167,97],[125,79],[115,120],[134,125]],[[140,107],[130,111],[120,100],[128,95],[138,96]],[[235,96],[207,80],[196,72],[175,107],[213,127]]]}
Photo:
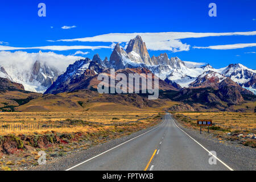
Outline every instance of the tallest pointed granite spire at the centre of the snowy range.
{"label": "tallest pointed granite spire at the centre of the snowy range", "polygon": [[126,52],[132,61],[152,65],[146,44],[143,42],[141,36],[137,35],[134,39],[129,41]]}

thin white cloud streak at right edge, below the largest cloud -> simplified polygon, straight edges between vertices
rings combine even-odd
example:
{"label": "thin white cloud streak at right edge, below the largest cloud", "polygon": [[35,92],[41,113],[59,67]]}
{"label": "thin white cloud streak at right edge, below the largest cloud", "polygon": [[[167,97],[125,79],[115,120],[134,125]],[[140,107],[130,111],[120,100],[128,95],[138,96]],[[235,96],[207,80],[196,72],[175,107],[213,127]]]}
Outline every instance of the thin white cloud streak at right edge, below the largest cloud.
{"label": "thin white cloud streak at right edge, below the largest cloud", "polygon": [[246,44],[228,44],[228,45],[218,45],[218,46],[208,46],[208,47],[197,47],[194,46],[193,48],[197,49],[239,49],[245,47],[255,47],[256,43],[246,43]]}

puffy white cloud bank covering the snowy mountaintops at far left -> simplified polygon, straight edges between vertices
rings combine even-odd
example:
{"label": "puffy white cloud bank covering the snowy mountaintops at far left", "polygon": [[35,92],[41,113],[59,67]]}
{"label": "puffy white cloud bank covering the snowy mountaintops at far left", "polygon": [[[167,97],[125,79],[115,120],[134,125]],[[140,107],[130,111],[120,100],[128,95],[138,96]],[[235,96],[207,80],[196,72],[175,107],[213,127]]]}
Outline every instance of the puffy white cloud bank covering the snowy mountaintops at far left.
{"label": "puffy white cloud bank covering the snowy mountaintops at far left", "polygon": [[13,67],[19,68],[20,72],[26,73],[26,70],[31,68],[36,60],[46,62],[48,65],[52,65],[61,72],[64,72],[69,64],[73,64],[76,60],[80,59],[84,59],[84,57],[65,56],[54,52],[27,53],[24,51],[0,51],[0,65],[11,75],[18,74],[14,72],[15,70],[13,71]]}

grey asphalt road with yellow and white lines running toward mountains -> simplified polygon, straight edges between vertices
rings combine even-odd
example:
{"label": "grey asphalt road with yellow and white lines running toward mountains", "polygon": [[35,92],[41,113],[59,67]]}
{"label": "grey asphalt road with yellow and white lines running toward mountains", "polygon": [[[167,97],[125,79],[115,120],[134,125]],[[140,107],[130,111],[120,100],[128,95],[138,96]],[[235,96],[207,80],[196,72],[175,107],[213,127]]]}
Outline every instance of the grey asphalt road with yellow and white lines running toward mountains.
{"label": "grey asphalt road with yellow and white lines running toward mountains", "polygon": [[163,119],[158,127],[67,170],[232,170],[221,156],[209,154],[203,143],[180,129],[171,114]]}

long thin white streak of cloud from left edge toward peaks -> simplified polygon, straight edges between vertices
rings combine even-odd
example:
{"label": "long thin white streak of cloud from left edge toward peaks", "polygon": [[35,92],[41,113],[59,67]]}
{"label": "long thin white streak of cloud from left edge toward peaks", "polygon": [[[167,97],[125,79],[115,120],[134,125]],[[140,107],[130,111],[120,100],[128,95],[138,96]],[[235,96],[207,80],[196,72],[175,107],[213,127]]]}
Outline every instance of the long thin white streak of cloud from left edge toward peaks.
{"label": "long thin white streak of cloud from left edge toward peaks", "polygon": [[41,49],[41,50],[52,50],[52,51],[67,51],[75,49],[101,49],[111,48],[110,46],[41,46],[41,47],[10,47],[0,46],[0,51],[11,51],[11,50],[22,50],[22,49]]}

